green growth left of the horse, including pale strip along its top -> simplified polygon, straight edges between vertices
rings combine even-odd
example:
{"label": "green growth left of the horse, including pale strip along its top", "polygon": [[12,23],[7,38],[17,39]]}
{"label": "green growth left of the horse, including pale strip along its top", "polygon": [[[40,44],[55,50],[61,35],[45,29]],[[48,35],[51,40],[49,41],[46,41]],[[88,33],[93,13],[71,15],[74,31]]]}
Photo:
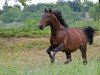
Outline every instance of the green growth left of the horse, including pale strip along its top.
{"label": "green growth left of the horse, including pale strip along its top", "polygon": [[28,25],[27,23],[1,24],[0,37],[33,37],[47,36],[50,30],[46,28],[41,31],[38,24]]}

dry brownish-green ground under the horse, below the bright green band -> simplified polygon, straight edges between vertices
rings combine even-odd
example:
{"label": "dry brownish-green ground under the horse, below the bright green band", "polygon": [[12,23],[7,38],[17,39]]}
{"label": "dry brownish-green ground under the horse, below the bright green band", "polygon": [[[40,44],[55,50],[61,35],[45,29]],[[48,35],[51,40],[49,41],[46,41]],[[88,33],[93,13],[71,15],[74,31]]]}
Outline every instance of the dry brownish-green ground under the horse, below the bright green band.
{"label": "dry brownish-green ground under the horse, below the bright green band", "polygon": [[88,46],[88,64],[82,64],[79,50],[73,61],[64,64],[65,54],[59,52],[50,64],[46,48],[49,37],[0,38],[0,75],[100,75],[100,35]]}

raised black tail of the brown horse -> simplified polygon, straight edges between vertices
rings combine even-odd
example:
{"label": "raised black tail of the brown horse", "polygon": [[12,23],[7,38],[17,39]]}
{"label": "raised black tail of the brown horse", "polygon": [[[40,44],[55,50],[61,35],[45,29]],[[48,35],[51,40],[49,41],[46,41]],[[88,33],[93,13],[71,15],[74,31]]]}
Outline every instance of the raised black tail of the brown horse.
{"label": "raised black tail of the brown horse", "polygon": [[87,28],[84,29],[84,31],[86,33],[89,45],[92,45],[93,44],[93,36],[94,36],[94,33],[95,33],[95,29],[93,29],[92,27],[87,27]]}

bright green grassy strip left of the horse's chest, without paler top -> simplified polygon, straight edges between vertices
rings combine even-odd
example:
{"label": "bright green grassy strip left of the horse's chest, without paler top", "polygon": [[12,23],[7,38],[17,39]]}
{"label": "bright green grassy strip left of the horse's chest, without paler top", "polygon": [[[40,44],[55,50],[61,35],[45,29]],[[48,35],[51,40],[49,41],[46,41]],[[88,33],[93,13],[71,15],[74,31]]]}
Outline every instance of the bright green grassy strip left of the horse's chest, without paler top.
{"label": "bright green grassy strip left of the horse's chest, without paler top", "polygon": [[33,26],[21,26],[19,28],[1,28],[1,37],[32,37],[32,36],[46,36],[50,31],[34,30]]}

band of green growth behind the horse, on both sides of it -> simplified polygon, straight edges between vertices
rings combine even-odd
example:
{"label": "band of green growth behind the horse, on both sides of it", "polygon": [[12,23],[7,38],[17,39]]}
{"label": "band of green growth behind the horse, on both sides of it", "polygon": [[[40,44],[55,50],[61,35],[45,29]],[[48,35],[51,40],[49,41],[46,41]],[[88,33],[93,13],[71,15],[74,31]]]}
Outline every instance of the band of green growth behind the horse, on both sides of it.
{"label": "band of green growth behind the horse, on both sides of it", "polygon": [[[0,23],[0,37],[41,37],[50,36],[50,28],[44,30],[38,28],[38,21],[29,21],[27,23]],[[69,23],[71,28],[84,28],[91,26],[100,31],[100,21],[76,21]]]}

